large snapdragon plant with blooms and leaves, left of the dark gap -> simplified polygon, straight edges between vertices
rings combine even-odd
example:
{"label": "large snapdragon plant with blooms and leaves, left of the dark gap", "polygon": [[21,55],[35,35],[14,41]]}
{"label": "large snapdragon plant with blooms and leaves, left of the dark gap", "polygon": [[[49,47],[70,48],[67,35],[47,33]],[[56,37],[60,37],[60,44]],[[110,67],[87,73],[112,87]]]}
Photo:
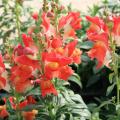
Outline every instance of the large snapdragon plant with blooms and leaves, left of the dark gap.
{"label": "large snapdragon plant with blooms and leaves, left of the dark gap", "polygon": [[76,36],[76,30],[81,29],[80,13],[64,14],[64,10],[58,1],[44,0],[42,10],[32,14],[35,25],[28,28],[27,34],[21,34],[16,14],[21,43],[0,55],[0,89],[10,87],[8,95],[1,98],[2,119],[69,119],[74,114],[81,118],[77,104],[83,104],[83,112],[88,114],[84,117],[89,117],[80,96],[64,87],[74,73],[70,64],[80,64],[82,54]]}

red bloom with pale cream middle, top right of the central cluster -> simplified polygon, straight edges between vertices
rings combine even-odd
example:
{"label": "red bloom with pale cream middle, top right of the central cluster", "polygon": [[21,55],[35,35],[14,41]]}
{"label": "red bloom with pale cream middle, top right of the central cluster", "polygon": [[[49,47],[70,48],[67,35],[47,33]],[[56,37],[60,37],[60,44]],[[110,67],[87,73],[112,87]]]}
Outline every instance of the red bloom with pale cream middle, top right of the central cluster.
{"label": "red bloom with pale cream middle, top right of the central cluster", "polygon": [[59,30],[63,29],[63,39],[68,37],[76,38],[76,30],[81,29],[81,18],[79,12],[69,12],[68,15],[61,17],[58,24]]}

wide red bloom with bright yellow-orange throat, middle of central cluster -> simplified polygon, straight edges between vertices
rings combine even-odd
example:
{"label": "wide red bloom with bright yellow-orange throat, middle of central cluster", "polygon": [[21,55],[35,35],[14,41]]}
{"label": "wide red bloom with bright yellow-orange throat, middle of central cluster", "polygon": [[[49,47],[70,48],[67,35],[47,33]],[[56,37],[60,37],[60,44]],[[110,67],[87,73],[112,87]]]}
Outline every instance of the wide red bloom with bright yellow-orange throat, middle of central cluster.
{"label": "wide red bloom with bright yellow-orange throat, middle of central cluster", "polygon": [[44,56],[44,59],[44,74],[47,79],[53,79],[54,77],[58,77],[60,69],[72,63],[72,59],[70,57],[61,56],[60,54],[54,52],[48,54],[46,53],[46,58]]}

